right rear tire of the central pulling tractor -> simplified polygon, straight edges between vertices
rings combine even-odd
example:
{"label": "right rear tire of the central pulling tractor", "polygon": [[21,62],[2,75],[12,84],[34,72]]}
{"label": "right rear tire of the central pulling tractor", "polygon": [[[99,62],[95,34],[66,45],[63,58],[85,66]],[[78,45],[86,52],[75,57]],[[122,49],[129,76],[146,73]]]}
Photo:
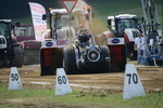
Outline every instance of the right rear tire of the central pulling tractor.
{"label": "right rear tire of the central pulling tractor", "polygon": [[101,45],[100,51],[101,51],[101,56],[104,58],[104,67],[102,68],[102,71],[109,72],[111,67],[110,50],[106,45]]}

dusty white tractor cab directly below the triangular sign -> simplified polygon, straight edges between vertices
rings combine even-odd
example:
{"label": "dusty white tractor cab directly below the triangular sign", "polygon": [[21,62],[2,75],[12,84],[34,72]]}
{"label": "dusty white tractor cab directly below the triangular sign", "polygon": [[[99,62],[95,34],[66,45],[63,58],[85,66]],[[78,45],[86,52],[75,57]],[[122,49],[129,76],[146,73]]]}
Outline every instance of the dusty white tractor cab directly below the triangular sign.
{"label": "dusty white tractor cab directly below the triangular sign", "polygon": [[[79,9],[74,9],[71,15],[65,9],[49,9],[50,38],[75,38],[75,31],[84,25],[84,11]],[[47,15],[42,18],[46,19]]]}

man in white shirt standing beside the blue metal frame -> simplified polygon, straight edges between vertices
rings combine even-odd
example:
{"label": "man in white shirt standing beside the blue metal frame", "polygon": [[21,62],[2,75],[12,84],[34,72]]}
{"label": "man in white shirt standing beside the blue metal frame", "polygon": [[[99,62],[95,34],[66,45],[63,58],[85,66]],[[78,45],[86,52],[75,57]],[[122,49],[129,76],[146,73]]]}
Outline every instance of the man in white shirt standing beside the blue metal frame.
{"label": "man in white shirt standing beside the blue metal frame", "polygon": [[138,52],[138,57],[145,54],[145,38],[142,37],[141,32],[138,33],[138,37],[135,40],[135,51]]}

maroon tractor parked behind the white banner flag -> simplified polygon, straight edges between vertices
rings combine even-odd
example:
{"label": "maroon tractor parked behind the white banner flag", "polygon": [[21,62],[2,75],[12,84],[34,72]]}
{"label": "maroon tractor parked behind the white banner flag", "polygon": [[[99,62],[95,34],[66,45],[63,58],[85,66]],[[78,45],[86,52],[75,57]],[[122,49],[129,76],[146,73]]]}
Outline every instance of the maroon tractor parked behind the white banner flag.
{"label": "maroon tractor parked behind the white banner flag", "polygon": [[21,24],[13,31],[24,52],[24,65],[40,64],[41,41],[36,40],[33,24]]}

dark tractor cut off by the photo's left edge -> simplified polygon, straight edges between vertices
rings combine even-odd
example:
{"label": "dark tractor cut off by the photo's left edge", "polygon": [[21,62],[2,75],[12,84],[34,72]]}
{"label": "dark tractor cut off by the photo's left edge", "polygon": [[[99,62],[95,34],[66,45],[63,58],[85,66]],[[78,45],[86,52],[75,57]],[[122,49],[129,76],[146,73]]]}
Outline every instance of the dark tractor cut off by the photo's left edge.
{"label": "dark tractor cut off by the photo's left edge", "polygon": [[12,35],[12,29],[18,25],[11,24],[11,19],[0,19],[0,68],[22,67],[23,50]]}

